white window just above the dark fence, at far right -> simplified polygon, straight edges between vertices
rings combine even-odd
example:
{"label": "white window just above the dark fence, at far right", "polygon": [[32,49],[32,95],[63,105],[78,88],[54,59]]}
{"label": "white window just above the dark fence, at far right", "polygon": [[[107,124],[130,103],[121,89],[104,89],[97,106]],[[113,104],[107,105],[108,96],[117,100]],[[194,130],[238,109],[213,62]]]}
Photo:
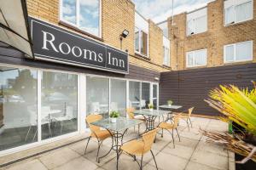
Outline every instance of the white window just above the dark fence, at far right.
{"label": "white window just above the dark fence, at far right", "polygon": [[253,60],[253,41],[224,46],[224,63]]}

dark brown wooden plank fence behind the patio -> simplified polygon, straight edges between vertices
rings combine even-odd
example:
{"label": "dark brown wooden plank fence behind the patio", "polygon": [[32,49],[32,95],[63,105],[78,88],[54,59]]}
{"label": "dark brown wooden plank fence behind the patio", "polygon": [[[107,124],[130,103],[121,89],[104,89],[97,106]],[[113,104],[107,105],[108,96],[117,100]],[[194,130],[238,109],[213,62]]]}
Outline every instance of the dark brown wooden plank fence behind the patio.
{"label": "dark brown wooden plank fence behind the patio", "polygon": [[172,99],[174,105],[183,105],[180,111],[195,106],[196,114],[216,116],[218,111],[204,101],[209,91],[219,84],[253,88],[252,80],[256,81],[256,63],[163,72],[160,74],[160,105]]}

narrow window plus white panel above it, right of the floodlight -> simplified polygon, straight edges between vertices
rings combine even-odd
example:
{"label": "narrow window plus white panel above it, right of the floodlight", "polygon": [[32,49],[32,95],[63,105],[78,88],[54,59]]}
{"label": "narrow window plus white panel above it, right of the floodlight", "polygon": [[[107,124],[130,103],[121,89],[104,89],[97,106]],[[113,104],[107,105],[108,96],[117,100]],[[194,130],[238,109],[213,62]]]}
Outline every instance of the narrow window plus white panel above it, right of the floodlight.
{"label": "narrow window plus white panel above it, right of the floodlight", "polygon": [[148,56],[148,20],[135,13],[135,52]]}

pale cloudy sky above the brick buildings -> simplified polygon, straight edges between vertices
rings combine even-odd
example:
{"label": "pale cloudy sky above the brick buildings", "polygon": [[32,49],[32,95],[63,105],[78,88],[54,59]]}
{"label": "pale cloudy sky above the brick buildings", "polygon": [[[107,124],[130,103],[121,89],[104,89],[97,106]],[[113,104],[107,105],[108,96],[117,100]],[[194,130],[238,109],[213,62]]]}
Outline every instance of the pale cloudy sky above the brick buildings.
{"label": "pale cloudy sky above the brick buildings", "polygon": [[[172,14],[172,0],[132,0],[136,9],[146,19],[155,23],[166,20]],[[174,14],[200,8],[212,0],[174,0]]]}

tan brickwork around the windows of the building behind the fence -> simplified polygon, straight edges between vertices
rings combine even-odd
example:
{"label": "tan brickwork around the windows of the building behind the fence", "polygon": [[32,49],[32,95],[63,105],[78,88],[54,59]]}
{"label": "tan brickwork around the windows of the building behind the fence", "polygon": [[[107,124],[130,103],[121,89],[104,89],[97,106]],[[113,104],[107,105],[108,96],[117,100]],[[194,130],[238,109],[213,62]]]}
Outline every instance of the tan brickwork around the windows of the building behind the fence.
{"label": "tan brickwork around the windows of the building behind the fence", "polygon": [[[253,61],[256,62],[256,1],[253,1],[253,20],[224,26],[224,0],[216,0],[207,5],[207,31],[186,37],[186,13],[174,16],[175,26],[169,18],[169,35],[172,39],[172,69],[187,69],[185,54],[188,51],[207,48],[207,67],[224,64],[224,45],[253,40]],[[173,34],[173,35],[172,35]]]}

